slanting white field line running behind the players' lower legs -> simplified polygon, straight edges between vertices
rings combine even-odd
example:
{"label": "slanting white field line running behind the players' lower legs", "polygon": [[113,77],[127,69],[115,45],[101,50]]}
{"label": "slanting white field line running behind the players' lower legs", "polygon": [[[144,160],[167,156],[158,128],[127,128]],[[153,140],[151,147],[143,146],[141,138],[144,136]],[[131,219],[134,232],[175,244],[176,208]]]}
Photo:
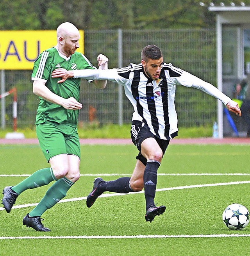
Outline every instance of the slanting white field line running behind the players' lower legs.
{"label": "slanting white field line running behind the players' lower legs", "polygon": [[[156,191],[168,191],[168,190],[180,190],[180,189],[187,189],[187,188],[203,188],[203,187],[213,187],[213,186],[227,186],[227,185],[237,185],[237,184],[247,184],[250,183],[250,181],[232,181],[232,182],[226,182],[226,183],[212,183],[212,184],[198,184],[198,185],[189,185],[189,186],[179,186],[179,187],[171,187],[171,188],[158,188]],[[139,194],[144,193],[144,190],[140,192],[130,192],[128,194]],[[128,195],[125,193],[105,193],[100,195],[100,197],[114,197],[114,196],[121,196],[121,195]],[[81,201],[86,200],[87,197],[75,197],[70,199],[62,199],[58,203],[62,202],[73,202],[73,201]],[[33,204],[20,204],[20,205],[14,205],[12,209],[18,209],[18,208],[26,208],[30,206],[37,206],[38,203]],[[3,207],[0,207],[0,211],[5,210]]]}

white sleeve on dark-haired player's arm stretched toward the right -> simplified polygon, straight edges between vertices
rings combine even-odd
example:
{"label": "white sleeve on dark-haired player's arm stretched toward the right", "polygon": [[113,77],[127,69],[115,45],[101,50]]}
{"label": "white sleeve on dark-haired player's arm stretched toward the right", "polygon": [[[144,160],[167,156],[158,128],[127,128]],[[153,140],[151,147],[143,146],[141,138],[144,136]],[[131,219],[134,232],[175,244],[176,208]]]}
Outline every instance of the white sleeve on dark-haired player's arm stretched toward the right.
{"label": "white sleeve on dark-haired player's arm stretched toward the right", "polygon": [[194,87],[196,89],[202,90],[205,93],[221,100],[223,104],[227,105],[227,103],[231,100],[231,98],[227,97],[222,91],[218,90],[212,84],[203,81],[202,79],[192,75],[186,71],[182,73],[180,77],[176,77],[178,84],[182,84],[187,87]]}

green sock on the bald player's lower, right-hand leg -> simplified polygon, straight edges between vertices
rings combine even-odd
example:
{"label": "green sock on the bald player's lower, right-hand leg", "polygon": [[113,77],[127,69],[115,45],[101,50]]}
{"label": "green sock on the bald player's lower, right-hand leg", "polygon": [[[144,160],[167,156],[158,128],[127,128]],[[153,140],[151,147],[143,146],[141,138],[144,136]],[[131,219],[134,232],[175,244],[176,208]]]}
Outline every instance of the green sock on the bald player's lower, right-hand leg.
{"label": "green sock on the bald player's lower, right-hand leg", "polygon": [[52,208],[57,202],[66,197],[66,193],[73,186],[67,178],[56,181],[46,192],[39,204],[29,213],[30,217],[41,216],[47,209]]}

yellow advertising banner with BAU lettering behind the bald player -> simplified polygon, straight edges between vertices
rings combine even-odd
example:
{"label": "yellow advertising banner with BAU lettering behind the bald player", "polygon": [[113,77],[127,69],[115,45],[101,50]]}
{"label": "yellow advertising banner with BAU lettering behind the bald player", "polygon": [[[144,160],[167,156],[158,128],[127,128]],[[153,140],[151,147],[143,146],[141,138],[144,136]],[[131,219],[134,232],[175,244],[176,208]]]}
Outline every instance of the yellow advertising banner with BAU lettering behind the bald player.
{"label": "yellow advertising banner with BAU lettering behind the bald player", "polygon": [[[0,70],[32,70],[39,54],[56,44],[56,30],[0,31]],[[83,30],[79,45],[84,53]]]}

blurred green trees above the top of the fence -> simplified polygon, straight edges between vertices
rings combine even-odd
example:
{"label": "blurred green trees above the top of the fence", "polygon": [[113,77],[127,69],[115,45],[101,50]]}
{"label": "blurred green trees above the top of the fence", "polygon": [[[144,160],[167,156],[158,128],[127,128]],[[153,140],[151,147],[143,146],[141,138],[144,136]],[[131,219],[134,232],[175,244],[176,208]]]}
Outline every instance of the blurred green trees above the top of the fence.
{"label": "blurred green trees above the top of the fence", "polygon": [[[211,1],[202,2],[205,6],[200,0],[1,0],[0,29],[55,29],[65,21],[79,29],[214,28],[215,14],[208,11]],[[232,1],[222,2],[229,6]],[[240,5],[241,0],[233,2]]]}

